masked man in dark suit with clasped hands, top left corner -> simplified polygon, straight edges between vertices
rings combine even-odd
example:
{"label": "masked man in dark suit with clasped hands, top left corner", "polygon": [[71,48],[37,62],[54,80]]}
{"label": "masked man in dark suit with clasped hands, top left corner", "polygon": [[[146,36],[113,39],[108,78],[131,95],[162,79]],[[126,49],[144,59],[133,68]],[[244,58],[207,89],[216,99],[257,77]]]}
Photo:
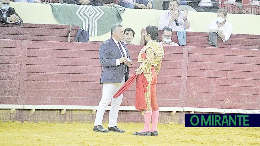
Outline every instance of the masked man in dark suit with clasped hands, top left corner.
{"label": "masked man in dark suit with clasped hands, top left corner", "polygon": [[10,0],[0,0],[0,22],[4,24],[23,23],[22,18],[20,18],[19,15],[16,14],[14,8],[10,8],[9,6],[10,6]]}

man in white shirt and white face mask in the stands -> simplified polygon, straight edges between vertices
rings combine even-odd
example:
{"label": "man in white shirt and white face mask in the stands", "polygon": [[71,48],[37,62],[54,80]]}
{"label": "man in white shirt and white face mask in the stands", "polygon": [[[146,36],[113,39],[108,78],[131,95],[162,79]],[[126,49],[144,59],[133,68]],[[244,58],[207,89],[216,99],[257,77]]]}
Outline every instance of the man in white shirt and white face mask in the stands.
{"label": "man in white shirt and white face mask in the stands", "polygon": [[217,20],[211,21],[208,27],[208,32],[217,33],[223,42],[229,40],[233,32],[233,26],[229,22],[226,22],[226,17],[227,11],[225,9],[219,9],[217,11]]}

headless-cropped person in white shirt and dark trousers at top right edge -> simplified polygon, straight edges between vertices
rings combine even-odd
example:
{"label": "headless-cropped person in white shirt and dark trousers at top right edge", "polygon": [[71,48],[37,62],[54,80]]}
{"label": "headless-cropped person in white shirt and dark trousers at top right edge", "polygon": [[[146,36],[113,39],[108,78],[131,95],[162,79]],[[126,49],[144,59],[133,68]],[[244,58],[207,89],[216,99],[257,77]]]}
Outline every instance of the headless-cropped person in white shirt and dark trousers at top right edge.
{"label": "headless-cropped person in white shirt and dark trousers at top right edge", "polygon": [[190,0],[190,6],[197,12],[217,12],[218,0]]}

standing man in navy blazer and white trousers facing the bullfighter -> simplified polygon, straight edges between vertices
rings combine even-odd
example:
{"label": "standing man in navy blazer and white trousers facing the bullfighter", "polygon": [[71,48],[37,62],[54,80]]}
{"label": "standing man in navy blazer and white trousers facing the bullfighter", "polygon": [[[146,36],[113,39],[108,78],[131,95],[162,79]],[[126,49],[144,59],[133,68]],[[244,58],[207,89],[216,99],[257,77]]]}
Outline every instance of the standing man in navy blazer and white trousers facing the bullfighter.
{"label": "standing man in navy blazer and white trousers facing the bullfighter", "polygon": [[[119,106],[122,103],[123,94],[113,98],[114,94],[129,79],[129,66],[132,65],[127,47],[122,42],[124,28],[121,24],[114,24],[111,28],[111,38],[101,44],[99,48],[99,62],[103,67],[100,83],[103,84],[102,97],[96,112],[93,131],[97,132],[125,132],[117,127]],[[102,126],[103,116],[107,106],[111,102],[109,111],[108,130]]]}

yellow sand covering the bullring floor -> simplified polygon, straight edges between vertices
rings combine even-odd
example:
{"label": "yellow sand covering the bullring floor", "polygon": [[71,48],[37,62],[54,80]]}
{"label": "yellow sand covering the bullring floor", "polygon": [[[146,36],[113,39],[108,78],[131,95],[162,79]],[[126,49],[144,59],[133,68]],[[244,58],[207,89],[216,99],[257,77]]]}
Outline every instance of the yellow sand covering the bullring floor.
{"label": "yellow sand covering the bullring floor", "polygon": [[[103,124],[107,128],[107,123]],[[159,136],[133,136],[138,123],[118,123],[126,132],[93,132],[93,123],[0,122],[1,146],[73,145],[260,145],[260,128],[185,128],[159,124]]]}

